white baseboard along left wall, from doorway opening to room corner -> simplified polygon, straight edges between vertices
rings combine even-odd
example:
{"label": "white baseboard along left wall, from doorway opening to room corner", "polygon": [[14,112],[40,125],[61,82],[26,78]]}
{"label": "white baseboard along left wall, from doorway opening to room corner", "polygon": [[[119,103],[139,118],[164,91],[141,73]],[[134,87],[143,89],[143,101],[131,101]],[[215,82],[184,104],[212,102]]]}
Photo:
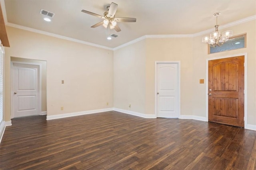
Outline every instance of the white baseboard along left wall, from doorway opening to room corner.
{"label": "white baseboard along left wall, from doorway opening to room corner", "polygon": [[106,109],[98,109],[98,110],[79,111],[74,113],[65,113],[60,115],[47,115],[46,120],[60,119],[60,118],[79,116],[79,115],[87,115],[87,114],[100,113],[100,112],[112,111],[112,110],[113,108],[106,108]]}

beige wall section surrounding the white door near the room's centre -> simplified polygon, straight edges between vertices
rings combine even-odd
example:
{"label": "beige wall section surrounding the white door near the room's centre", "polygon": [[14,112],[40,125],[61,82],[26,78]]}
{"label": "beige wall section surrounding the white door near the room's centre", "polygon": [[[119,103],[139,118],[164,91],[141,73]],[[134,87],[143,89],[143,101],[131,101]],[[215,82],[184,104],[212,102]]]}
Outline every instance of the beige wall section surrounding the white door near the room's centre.
{"label": "beige wall section surrounding the white door near the room's centre", "polygon": [[146,39],[146,113],[155,114],[155,61],[180,61],[181,113],[188,114],[193,100],[187,87],[193,78],[191,38]]}

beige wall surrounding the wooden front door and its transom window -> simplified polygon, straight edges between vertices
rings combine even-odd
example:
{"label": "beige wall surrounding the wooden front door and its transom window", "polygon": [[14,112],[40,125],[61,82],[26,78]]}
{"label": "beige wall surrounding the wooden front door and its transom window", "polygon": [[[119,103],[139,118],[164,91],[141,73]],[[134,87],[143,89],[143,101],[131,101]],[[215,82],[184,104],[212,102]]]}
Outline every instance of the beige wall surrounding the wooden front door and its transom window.
{"label": "beige wall surrounding the wooden front door and its transom window", "polygon": [[[215,53],[208,55],[208,48],[206,44],[199,43],[202,39],[202,36],[194,37],[193,38],[193,56],[194,56],[194,75],[200,75],[202,77],[206,77],[206,59],[212,59],[216,57],[225,57],[225,56],[232,56],[238,55],[241,53],[248,54],[248,124],[256,125],[256,20],[248,21],[246,23],[242,23],[239,25],[235,25],[229,28],[225,28],[222,31],[232,29],[234,35],[239,35],[243,33],[247,33],[247,47],[243,49],[237,49],[232,51],[225,51],[221,53]],[[197,80],[198,82],[199,80]],[[206,87],[202,86],[202,88],[195,89],[195,92],[199,92],[200,96],[202,93],[205,93]],[[196,95],[196,94],[194,94]],[[205,108],[206,96],[202,95],[198,101],[194,101],[193,105],[194,108]],[[194,109],[193,115],[204,116],[205,111],[197,111]]]}

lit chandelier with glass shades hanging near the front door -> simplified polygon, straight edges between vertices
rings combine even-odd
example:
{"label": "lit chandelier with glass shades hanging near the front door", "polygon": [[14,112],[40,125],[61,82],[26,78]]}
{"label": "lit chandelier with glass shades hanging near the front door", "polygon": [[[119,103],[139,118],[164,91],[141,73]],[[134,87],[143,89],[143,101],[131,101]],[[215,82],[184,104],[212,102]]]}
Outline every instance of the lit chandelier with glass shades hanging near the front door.
{"label": "lit chandelier with glass shades hanging near the front door", "polygon": [[210,33],[210,36],[205,36],[202,38],[202,42],[203,43],[208,43],[210,45],[210,47],[220,47],[221,45],[224,44],[224,42],[228,41],[229,37],[232,37],[233,35],[233,31],[232,30],[228,30],[228,31],[224,31],[222,34],[220,34],[220,31],[218,30],[218,16],[220,15],[220,12],[216,12],[215,14],[213,14],[213,16],[216,17],[216,25],[215,27],[215,31]]}

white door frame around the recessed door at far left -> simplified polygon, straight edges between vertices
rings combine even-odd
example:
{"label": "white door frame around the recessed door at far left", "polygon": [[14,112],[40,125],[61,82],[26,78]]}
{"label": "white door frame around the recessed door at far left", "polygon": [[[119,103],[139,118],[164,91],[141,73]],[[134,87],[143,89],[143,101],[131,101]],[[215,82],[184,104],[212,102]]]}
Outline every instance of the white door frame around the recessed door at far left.
{"label": "white door frame around the recessed door at far left", "polygon": [[36,66],[39,66],[39,84],[38,84],[38,102],[37,102],[37,105],[38,105],[38,115],[41,115],[42,113],[42,64],[40,63],[26,63],[26,62],[20,62],[20,61],[11,61],[11,119],[13,118],[14,116],[14,113],[13,113],[13,109],[12,109],[12,94],[14,93],[13,92],[13,89],[12,89],[12,85],[13,85],[13,82],[12,82],[12,70],[13,70],[13,64],[14,63],[18,63],[18,64],[30,64],[30,65],[36,65]]}

